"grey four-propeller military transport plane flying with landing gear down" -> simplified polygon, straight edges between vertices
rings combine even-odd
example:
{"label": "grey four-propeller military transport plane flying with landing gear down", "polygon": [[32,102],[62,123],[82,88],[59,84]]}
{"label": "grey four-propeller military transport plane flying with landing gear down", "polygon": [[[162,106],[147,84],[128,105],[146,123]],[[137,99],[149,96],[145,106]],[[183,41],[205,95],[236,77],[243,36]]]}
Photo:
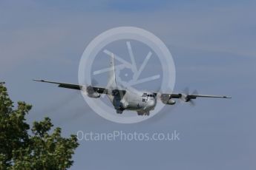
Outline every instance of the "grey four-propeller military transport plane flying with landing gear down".
{"label": "grey four-propeller military transport plane flying with landing gear down", "polygon": [[117,114],[122,114],[124,110],[132,110],[138,115],[149,115],[149,112],[154,109],[157,104],[157,99],[160,99],[165,104],[174,105],[174,99],[180,99],[185,102],[192,102],[196,98],[230,98],[219,95],[197,95],[187,93],[160,93],[160,92],[134,92],[129,89],[122,89],[116,85],[114,54],[111,55],[110,70],[108,76],[108,86],[85,86],[82,84],[65,84],[61,82],[33,80],[50,84],[58,84],[59,87],[68,89],[78,89],[86,92],[89,98],[99,98],[101,94],[106,94],[116,109]]}

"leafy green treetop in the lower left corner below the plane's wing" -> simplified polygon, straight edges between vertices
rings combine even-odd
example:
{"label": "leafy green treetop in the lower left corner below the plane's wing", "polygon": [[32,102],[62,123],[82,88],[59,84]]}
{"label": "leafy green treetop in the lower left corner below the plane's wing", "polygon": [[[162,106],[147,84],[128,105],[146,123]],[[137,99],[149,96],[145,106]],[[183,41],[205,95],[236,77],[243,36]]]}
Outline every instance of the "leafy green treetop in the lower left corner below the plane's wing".
{"label": "leafy green treetop in the lower left corner below the plane's wing", "polygon": [[62,137],[59,127],[49,134],[50,118],[34,122],[30,129],[25,115],[31,108],[19,101],[14,109],[7,88],[0,83],[0,169],[68,169],[79,146],[76,135]]}

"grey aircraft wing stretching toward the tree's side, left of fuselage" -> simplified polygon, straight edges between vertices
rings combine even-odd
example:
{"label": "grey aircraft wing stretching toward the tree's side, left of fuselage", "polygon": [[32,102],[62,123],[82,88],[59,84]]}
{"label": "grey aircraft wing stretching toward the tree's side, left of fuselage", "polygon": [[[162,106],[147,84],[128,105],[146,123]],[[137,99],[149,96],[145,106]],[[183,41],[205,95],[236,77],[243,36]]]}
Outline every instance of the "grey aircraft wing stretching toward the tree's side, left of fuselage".
{"label": "grey aircraft wing stretching toward the tree's side, left of fuselage", "polygon": [[[59,87],[63,87],[63,88],[68,88],[68,89],[78,89],[78,90],[82,90],[84,86],[79,85],[79,84],[65,84],[62,82],[55,82],[55,81],[45,81],[45,80],[36,80],[34,79],[33,81],[39,81],[39,82],[44,82],[44,83],[50,83],[50,84],[58,84]],[[90,86],[91,88],[93,88],[94,92],[98,92],[100,94],[102,93],[107,93],[108,89],[99,87],[99,86]]]}

